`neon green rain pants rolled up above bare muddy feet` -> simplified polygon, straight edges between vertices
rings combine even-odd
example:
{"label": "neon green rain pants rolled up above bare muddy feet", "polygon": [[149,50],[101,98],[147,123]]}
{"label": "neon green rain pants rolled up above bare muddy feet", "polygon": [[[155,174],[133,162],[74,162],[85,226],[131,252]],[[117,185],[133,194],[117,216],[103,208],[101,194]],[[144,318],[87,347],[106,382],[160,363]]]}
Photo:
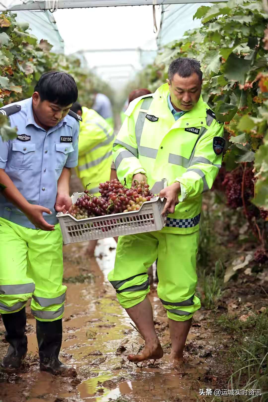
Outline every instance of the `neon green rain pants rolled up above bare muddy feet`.
{"label": "neon green rain pants rolled up above bare muddy feet", "polygon": [[151,232],[121,236],[117,244],[115,268],[108,280],[116,289],[123,308],[145,299],[149,292],[147,269],[158,258],[158,297],[174,321],[189,320],[200,308],[194,295],[198,232],[167,234]]}

